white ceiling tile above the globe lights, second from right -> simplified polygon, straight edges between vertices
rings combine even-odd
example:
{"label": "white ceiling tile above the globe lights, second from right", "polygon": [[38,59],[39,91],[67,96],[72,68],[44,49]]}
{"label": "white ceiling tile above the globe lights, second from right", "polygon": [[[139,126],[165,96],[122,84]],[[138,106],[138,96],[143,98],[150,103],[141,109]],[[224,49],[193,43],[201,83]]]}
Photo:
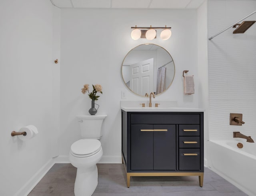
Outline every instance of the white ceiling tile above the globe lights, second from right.
{"label": "white ceiling tile above the globe lights, second from right", "polygon": [[152,0],[150,8],[183,9],[191,0]]}

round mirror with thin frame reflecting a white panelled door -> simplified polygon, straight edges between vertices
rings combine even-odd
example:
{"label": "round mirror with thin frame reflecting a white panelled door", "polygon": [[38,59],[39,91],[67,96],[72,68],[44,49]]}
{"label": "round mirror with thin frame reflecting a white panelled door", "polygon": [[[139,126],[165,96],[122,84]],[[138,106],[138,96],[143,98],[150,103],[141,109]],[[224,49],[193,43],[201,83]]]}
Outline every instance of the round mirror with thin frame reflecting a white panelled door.
{"label": "round mirror with thin frame reflecting a white panelled door", "polygon": [[135,94],[158,95],[172,84],[175,66],[171,55],[155,44],[142,44],[132,49],[122,63],[126,86]]}

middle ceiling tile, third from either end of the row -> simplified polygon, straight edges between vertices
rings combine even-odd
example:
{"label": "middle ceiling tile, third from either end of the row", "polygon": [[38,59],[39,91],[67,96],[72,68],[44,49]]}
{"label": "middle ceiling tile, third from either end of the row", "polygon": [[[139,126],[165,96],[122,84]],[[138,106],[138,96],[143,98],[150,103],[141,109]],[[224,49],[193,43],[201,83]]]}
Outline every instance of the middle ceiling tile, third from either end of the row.
{"label": "middle ceiling tile, third from either end of the row", "polygon": [[150,0],[112,0],[112,8],[148,8]]}

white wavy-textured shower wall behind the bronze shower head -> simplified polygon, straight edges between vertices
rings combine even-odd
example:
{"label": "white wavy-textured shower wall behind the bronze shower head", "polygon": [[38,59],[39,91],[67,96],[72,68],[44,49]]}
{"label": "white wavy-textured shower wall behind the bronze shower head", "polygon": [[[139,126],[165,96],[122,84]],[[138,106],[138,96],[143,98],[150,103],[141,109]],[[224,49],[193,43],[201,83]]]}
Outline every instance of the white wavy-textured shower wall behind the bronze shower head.
{"label": "white wavy-textured shower wall behind the bronze shower head", "polygon": [[[254,10],[255,0],[209,0],[208,37]],[[230,140],[240,131],[256,141],[256,24],[244,34],[233,31],[208,41],[209,139]],[[229,125],[230,113],[242,113],[245,124]]]}

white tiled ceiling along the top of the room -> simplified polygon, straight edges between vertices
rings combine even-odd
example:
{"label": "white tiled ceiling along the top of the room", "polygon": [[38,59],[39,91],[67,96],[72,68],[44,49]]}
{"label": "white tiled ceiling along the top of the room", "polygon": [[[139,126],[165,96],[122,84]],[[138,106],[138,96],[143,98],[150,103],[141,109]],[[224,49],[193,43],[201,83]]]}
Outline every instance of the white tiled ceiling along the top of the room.
{"label": "white tiled ceiling along the top of the room", "polygon": [[50,0],[59,8],[196,9],[204,0]]}

